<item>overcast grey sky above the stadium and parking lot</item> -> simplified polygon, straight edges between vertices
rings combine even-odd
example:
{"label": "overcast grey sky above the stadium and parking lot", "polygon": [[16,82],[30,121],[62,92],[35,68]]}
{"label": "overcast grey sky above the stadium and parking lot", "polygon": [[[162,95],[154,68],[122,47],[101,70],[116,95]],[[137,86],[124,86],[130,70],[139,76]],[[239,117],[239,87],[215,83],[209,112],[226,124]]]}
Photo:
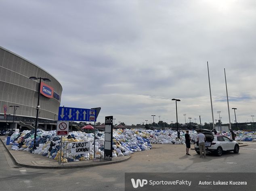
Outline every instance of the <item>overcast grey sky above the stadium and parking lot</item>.
{"label": "overcast grey sky above the stadium and parking lot", "polygon": [[[256,116],[255,0],[1,0],[0,45],[63,86],[61,105],[128,125]],[[231,120],[235,120],[233,110]],[[256,119],[255,119],[256,121]]]}

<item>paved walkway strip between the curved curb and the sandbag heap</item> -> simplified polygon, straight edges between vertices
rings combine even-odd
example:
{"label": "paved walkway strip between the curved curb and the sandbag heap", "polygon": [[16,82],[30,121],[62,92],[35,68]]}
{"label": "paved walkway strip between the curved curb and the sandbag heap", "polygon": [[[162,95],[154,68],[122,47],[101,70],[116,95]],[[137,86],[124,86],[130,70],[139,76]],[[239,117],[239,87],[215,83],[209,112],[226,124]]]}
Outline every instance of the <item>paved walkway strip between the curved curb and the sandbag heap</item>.
{"label": "paved walkway strip between the curved curb and the sandbag heap", "polygon": [[0,140],[0,145],[2,144],[1,146],[4,146],[6,151],[10,154],[10,157],[13,158],[15,164],[30,168],[82,168],[124,162],[130,158],[130,156],[120,156],[112,158],[111,161],[98,159],[58,164],[57,160],[42,155],[32,154],[24,150],[11,150],[10,145],[4,144],[4,137],[1,137]]}

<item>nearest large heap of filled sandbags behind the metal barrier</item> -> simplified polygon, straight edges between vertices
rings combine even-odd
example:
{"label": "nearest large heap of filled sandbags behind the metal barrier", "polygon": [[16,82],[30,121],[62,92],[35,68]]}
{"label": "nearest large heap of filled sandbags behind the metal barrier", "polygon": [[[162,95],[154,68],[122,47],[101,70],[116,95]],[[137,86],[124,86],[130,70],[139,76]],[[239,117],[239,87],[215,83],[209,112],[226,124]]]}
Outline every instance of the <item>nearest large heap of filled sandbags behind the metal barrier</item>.
{"label": "nearest large heap of filled sandbags behind the metal barrier", "polygon": [[[34,133],[35,131],[23,131],[22,133],[13,133],[10,138],[12,150],[25,150],[34,154],[46,156],[58,160],[61,149],[61,140],[56,136],[56,131],[38,130],[36,136],[36,149],[34,150]],[[93,146],[94,134],[73,131],[69,136],[63,136],[62,140],[62,162],[92,160],[94,158]],[[104,132],[99,132],[95,136],[95,156],[96,158],[104,157]],[[71,142],[90,142],[91,149],[87,154],[76,154],[71,150]],[[134,152],[151,149],[149,139],[140,137],[140,134],[130,129],[113,130],[113,157],[127,156]]]}

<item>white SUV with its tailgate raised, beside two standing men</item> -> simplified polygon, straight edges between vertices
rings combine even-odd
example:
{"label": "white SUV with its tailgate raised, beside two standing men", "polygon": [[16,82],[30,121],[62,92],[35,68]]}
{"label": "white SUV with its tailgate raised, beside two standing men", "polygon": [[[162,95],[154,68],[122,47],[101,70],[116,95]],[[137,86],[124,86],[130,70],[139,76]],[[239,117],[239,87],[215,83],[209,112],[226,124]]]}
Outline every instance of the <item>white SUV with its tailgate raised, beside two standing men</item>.
{"label": "white SUV with its tailgate raised, beside two standing men", "polygon": [[[198,132],[198,130],[196,131]],[[239,145],[236,141],[222,135],[214,136],[208,129],[200,130],[206,136],[206,153],[213,153],[217,156],[221,156],[223,152],[233,151],[236,154],[239,153]],[[195,151],[197,154],[200,154],[198,142],[195,144]]]}

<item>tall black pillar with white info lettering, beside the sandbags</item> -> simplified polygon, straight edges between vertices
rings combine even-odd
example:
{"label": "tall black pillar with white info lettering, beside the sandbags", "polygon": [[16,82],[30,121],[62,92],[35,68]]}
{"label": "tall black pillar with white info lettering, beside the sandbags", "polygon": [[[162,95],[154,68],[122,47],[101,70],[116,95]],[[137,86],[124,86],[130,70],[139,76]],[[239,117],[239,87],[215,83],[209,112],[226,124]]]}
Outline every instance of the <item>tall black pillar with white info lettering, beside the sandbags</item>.
{"label": "tall black pillar with white info lettering, beside the sandbags", "polygon": [[112,160],[112,143],[113,143],[113,116],[105,117],[105,146],[104,159]]}

